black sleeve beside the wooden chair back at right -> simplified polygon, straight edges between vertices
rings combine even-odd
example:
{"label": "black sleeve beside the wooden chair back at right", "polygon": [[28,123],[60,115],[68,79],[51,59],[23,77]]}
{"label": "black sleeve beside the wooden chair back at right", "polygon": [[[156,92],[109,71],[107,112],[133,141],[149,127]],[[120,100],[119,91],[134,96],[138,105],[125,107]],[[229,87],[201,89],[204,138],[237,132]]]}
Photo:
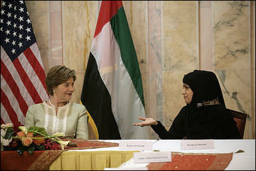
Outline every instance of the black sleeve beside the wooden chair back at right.
{"label": "black sleeve beside the wooden chair back at right", "polygon": [[221,108],[219,112],[219,121],[226,139],[242,139],[239,133],[234,117],[232,117],[229,110]]}

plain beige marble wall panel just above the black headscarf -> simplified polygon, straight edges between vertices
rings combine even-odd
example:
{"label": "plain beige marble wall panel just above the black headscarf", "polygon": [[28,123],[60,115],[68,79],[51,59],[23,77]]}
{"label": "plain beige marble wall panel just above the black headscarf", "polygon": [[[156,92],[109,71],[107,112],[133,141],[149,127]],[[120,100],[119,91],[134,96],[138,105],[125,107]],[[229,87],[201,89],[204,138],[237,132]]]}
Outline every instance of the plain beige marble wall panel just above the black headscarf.
{"label": "plain beige marble wall panel just above the black headscarf", "polygon": [[164,70],[198,65],[198,3],[163,1]]}

